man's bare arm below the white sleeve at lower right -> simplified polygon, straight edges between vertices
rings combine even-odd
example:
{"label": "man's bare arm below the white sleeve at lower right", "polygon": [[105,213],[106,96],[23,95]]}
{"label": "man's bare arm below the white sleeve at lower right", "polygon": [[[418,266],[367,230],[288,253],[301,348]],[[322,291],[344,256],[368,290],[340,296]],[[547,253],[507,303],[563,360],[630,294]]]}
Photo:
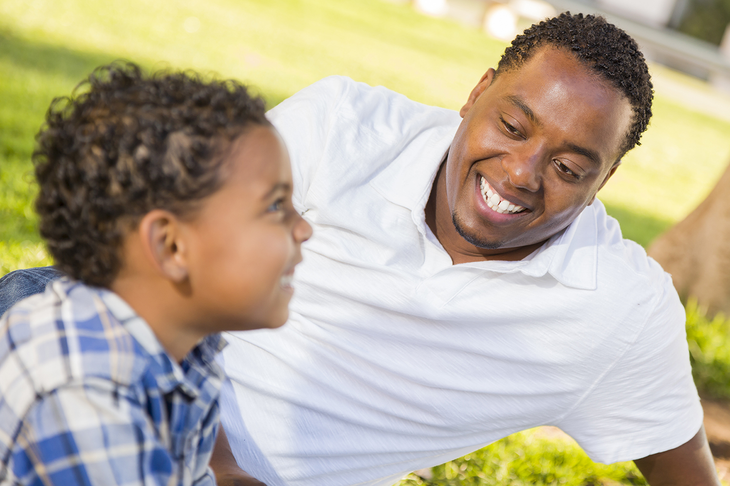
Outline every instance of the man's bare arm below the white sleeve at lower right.
{"label": "man's bare arm below the white sleeve at lower right", "polygon": [[651,486],[720,486],[704,426],[674,449],[634,460]]}

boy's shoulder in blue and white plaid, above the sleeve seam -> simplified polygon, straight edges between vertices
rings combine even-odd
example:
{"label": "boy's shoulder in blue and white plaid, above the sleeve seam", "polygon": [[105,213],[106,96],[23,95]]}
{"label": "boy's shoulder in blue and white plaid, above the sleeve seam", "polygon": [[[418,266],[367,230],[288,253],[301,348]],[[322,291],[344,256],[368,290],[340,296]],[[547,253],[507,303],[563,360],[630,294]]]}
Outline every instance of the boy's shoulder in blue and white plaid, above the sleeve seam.
{"label": "boy's shoulder in blue and white plaid, above the sleeve seam", "polygon": [[0,320],[0,396],[16,407],[70,383],[92,380],[128,386],[147,358],[108,312],[99,289],[64,279],[21,300]]}

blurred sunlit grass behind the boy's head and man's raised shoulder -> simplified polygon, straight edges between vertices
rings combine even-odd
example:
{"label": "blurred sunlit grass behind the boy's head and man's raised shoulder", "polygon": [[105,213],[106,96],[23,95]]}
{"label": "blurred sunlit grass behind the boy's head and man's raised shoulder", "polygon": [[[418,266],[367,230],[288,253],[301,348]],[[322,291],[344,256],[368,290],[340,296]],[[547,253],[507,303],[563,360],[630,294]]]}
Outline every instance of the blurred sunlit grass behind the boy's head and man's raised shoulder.
{"label": "blurred sunlit grass behind the boy's head and man's raised shoulder", "polygon": [[[200,28],[188,33],[188,17]],[[328,74],[458,107],[504,43],[383,1],[0,2],[0,240],[39,243],[30,157],[50,101],[102,63],[195,68],[274,106]],[[438,66],[439,76],[431,74]],[[21,252],[22,253],[22,252]],[[47,262],[0,248],[0,275]]]}

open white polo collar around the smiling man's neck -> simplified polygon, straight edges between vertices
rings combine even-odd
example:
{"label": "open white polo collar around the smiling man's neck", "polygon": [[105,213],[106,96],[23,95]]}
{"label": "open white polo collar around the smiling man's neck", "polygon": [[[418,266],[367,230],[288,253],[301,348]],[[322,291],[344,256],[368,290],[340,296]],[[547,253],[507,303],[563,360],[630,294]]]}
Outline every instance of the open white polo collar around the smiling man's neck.
{"label": "open white polo collar around the smiling man's neck", "polygon": [[[431,128],[430,141],[423,144],[420,157],[398,157],[375,176],[370,185],[391,203],[411,210],[413,223],[426,235],[426,203],[431,186],[453,137],[456,125]],[[558,232],[528,259],[517,262],[491,260],[457,266],[483,268],[496,273],[520,272],[535,278],[550,274],[558,282],[575,289],[598,287],[598,215],[605,211],[595,200],[565,230]]]}

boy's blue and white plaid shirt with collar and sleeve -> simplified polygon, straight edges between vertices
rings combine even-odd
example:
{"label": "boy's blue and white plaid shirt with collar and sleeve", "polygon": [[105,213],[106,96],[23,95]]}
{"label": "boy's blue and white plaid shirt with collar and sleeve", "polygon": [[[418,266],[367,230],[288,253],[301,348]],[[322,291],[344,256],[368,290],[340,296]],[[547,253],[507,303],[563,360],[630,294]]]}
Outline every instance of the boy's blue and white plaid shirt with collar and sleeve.
{"label": "boy's blue and white plaid shirt with collar and sleeve", "polygon": [[0,333],[0,484],[215,485],[219,334],[177,364],[120,297],[67,278]]}

